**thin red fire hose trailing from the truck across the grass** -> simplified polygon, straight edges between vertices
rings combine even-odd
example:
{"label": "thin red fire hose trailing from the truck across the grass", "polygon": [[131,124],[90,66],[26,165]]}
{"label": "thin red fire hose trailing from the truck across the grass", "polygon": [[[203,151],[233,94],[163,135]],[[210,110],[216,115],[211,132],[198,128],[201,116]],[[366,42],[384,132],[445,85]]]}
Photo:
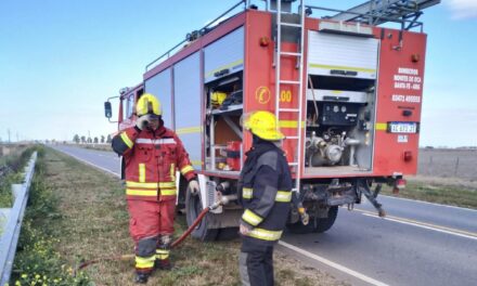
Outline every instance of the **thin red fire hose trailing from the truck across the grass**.
{"label": "thin red fire hose trailing from the truck across the grass", "polygon": [[[214,203],[212,205],[203,209],[201,211],[201,213],[198,213],[198,216],[194,220],[194,222],[191,224],[191,226],[189,226],[189,229],[184,233],[182,233],[182,235],[179,238],[177,238],[175,242],[172,242],[172,244],[170,245],[170,248],[176,248],[179,244],[181,244],[185,239],[185,237],[188,237],[192,233],[192,231],[194,231],[194,229],[197,226],[197,224],[201,223],[201,221],[204,219],[204,217],[205,217],[205,214],[207,214],[207,212],[209,212],[210,210],[214,210],[220,206],[227,205],[227,204],[229,204],[230,200],[233,200],[233,199],[236,199],[236,195],[220,196],[216,203]],[[76,276],[77,271],[85,269],[91,264],[95,264],[98,262],[124,261],[124,260],[133,259],[134,257],[136,257],[136,255],[121,255],[121,256],[109,256],[109,257],[102,257],[102,258],[88,260],[88,261],[82,262],[81,264],[78,265],[77,269],[75,269],[74,276]]]}

